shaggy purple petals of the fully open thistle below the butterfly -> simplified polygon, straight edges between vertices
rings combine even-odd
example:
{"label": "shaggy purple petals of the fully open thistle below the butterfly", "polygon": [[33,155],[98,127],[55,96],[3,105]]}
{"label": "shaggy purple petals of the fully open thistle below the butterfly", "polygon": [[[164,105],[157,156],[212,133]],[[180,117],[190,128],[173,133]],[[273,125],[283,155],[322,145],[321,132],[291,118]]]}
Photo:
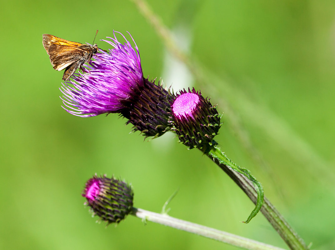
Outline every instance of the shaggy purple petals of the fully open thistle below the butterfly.
{"label": "shaggy purple petals of the fully open thistle below the butterfly", "polygon": [[124,36],[125,44],[118,41],[115,33],[114,38],[108,38],[111,41],[103,41],[114,47],[109,50],[112,56],[108,53],[95,55],[95,60],[85,65],[89,69],[85,69],[86,73],[73,75],[72,81],[60,88],[64,94],[61,99],[69,109],[63,108],[73,115],[89,117],[118,113],[126,108],[125,102],[134,89],[143,86],[141,59],[134,39],[136,51]]}

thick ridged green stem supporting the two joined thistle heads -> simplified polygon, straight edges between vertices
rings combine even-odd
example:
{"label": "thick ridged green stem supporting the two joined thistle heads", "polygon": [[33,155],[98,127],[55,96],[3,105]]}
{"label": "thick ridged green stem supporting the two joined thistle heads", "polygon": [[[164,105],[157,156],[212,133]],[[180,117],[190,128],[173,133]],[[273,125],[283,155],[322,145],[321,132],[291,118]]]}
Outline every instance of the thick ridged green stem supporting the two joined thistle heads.
{"label": "thick ridged green stem supporting the two joined thistle heads", "polygon": [[[225,154],[223,154],[219,147],[209,146],[207,149],[202,149],[207,156],[214,160],[214,162],[224,171],[229,177],[235,181],[236,184],[248,195],[248,197],[257,204],[258,189],[255,182],[248,179],[244,173],[237,172],[234,167],[237,165],[233,163]],[[256,205],[257,208],[257,205]],[[264,196],[264,202],[260,209],[265,218],[271,223],[273,228],[278,232],[281,238],[286,242],[288,247],[292,250],[308,250],[306,243],[300,236],[292,229],[288,222],[277,211],[274,205]],[[254,211],[253,211],[254,212]]]}

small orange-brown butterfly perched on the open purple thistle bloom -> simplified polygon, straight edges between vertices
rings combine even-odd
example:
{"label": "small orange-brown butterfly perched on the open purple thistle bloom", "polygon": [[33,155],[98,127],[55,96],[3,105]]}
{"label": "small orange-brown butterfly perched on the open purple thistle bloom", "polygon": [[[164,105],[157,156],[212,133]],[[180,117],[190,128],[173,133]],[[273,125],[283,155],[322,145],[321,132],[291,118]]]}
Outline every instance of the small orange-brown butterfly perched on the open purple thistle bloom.
{"label": "small orange-brown butterfly perched on the open purple thistle bloom", "polygon": [[43,34],[43,46],[50,57],[52,67],[58,71],[65,69],[64,81],[68,80],[78,68],[81,68],[81,65],[89,62],[99,49],[96,44],[80,44],[50,34]]}

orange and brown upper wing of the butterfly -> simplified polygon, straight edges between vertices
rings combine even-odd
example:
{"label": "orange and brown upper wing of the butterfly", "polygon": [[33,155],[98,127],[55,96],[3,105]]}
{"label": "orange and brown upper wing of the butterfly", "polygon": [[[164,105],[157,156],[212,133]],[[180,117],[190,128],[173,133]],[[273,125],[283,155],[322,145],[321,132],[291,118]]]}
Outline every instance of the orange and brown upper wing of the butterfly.
{"label": "orange and brown upper wing of the butterfly", "polygon": [[85,53],[79,48],[82,44],[50,34],[43,34],[43,46],[50,57],[52,67],[58,71],[78,61]]}

